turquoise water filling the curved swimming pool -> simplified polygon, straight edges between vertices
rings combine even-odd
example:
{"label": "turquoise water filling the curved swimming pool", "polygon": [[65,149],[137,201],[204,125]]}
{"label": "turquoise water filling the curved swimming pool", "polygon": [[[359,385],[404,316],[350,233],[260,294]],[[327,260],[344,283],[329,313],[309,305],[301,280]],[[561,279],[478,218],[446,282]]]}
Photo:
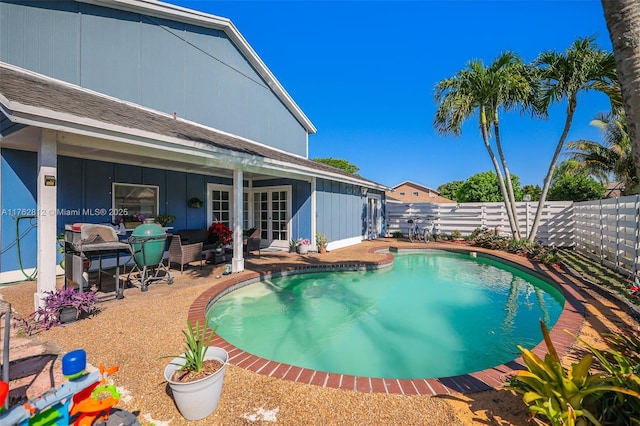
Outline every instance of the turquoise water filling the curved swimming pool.
{"label": "turquoise water filling the curved swimming pool", "polygon": [[231,344],[319,371],[384,378],[470,373],[542,340],[564,298],[487,258],[401,254],[392,268],[300,274],[250,284],[207,313]]}

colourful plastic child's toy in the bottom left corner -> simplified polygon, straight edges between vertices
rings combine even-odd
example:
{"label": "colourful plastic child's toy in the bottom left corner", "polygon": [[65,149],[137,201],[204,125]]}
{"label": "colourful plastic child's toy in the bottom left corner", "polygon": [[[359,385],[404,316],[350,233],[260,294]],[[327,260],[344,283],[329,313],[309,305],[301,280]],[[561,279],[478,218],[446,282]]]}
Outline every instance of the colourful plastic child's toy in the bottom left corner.
{"label": "colourful plastic child's toy in the bottom left corner", "polygon": [[[86,352],[71,351],[62,358],[62,374],[69,379],[24,405],[0,411],[0,424],[19,426],[91,425],[94,421],[109,424],[109,413],[120,400],[115,386],[105,385],[105,379],[118,367],[86,373]],[[9,386],[0,381],[0,403],[4,404]],[[73,405],[71,406],[71,403]],[[71,409],[70,409],[71,406]],[[133,417],[131,415],[131,417]],[[139,423],[133,417],[128,423]]]}

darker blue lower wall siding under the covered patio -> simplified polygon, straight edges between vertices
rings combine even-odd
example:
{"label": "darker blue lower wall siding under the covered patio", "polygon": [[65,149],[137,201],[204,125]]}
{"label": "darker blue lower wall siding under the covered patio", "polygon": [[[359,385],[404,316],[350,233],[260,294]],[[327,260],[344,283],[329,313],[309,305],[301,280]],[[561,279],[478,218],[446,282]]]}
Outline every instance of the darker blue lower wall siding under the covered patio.
{"label": "darker blue lower wall siding under the covered patio", "polygon": [[[0,272],[19,269],[15,245],[15,219],[13,213],[33,213],[37,207],[37,154],[14,149],[2,149],[2,254]],[[58,157],[58,210],[80,210],[78,215],[58,215],[57,232],[64,225],[75,222],[111,222],[109,215],[82,214],[112,207],[112,183],[155,185],[159,188],[159,213],[172,214],[174,229],[205,228],[207,209],[187,206],[192,197],[207,199],[207,184],[233,185],[230,178],[207,176],[150,167],[115,164],[104,161],[72,157]],[[245,182],[245,185],[247,183]],[[255,181],[254,187],[291,186],[292,238],[311,236],[311,185],[294,179]],[[10,188],[10,190],[9,190]],[[36,223],[20,221],[22,264],[24,268],[36,266]]]}

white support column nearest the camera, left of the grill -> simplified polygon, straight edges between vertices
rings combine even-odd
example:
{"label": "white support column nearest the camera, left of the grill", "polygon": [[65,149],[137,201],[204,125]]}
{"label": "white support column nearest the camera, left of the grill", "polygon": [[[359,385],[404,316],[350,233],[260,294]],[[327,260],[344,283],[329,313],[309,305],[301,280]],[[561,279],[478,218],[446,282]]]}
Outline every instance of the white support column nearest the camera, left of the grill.
{"label": "white support column nearest the camera, left of the grill", "polygon": [[38,282],[34,294],[37,309],[45,291],[56,289],[56,209],[58,185],[57,132],[43,129],[38,145]]}

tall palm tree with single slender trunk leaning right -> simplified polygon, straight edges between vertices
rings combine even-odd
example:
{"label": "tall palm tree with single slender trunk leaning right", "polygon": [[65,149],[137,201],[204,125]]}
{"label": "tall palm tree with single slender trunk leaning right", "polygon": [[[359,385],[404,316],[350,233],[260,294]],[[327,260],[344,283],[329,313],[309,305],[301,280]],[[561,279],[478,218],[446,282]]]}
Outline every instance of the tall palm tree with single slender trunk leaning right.
{"label": "tall palm tree with single slender trunk leaning right", "polygon": [[553,171],[571,129],[573,115],[578,106],[578,93],[597,90],[609,95],[614,93],[616,87],[613,54],[599,49],[593,37],[576,40],[564,53],[543,52],[534,63],[539,70],[541,105],[547,109],[551,103],[566,99],[567,116],[544,179],[538,209],[529,234],[529,241],[532,242],[535,240],[540,226],[540,218],[553,178]]}

